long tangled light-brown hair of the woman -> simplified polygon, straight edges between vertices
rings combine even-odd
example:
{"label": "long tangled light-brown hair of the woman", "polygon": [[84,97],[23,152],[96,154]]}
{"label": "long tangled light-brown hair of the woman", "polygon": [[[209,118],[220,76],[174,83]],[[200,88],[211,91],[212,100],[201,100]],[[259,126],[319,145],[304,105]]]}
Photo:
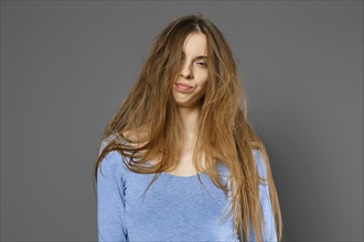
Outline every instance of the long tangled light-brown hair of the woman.
{"label": "long tangled light-brown hair of the woman", "polygon": [[[259,183],[268,185],[276,232],[281,241],[280,207],[268,154],[248,123],[246,97],[239,86],[233,54],[222,32],[201,13],[175,19],[153,38],[139,78],[105,129],[103,141],[110,136],[117,139],[109,139],[97,155],[94,178],[97,182],[97,168],[111,151],[120,153],[130,170],[156,174],[146,191],[160,173],[175,167],[183,141],[180,139],[182,124],[172,87],[181,69],[184,40],[195,32],[206,35],[208,80],[200,102],[193,164],[199,173],[207,174],[225,195],[231,196],[229,212],[233,212],[240,241],[249,240],[250,226],[256,240],[263,240],[264,218],[258,186]],[[261,153],[266,177],[258,175],[253,150]],[[202,157],[205,167],[199,162]],[[229,187],[221,183],[215,166],[217,161],[229,169]]]}

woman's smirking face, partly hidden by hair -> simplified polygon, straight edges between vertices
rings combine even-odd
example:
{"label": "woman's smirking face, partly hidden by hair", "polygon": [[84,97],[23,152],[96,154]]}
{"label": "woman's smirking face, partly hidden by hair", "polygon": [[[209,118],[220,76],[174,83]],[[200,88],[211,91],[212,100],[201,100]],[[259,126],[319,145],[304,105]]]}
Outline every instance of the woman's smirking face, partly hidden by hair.
{"label": "woman's smirking face, partly hidden by hair", "polygon": [[207,72],[206,35],[190,34],[183,45],[182,69],[173,84],[173,97],[179,107],[195,108],[204,96]]}

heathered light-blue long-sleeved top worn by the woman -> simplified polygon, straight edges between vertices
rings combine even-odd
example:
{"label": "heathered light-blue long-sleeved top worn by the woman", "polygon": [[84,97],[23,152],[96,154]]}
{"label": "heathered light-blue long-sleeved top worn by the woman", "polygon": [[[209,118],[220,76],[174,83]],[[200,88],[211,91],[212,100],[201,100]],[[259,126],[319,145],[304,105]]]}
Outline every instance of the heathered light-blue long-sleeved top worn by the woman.
{"label": "heathered light-blue long-sleeved top worn by the woman", "polygon": [[[265,176],[259,151],[253,153],[258,173]],[[218,164],[226,184],[228,169]],[[98,241],[238,241],[232,215],[220,220],[229,197],[205,173],[200,173],[205,188],[197,175],[161,173],[141,197],[153,175],[129,170],[117,151],[104,157],[97,170]],[[263,239],[277,241],[267,186],[259,185],[259,198],[266,222]],[[250,238],[255,241],[253,229]]]}

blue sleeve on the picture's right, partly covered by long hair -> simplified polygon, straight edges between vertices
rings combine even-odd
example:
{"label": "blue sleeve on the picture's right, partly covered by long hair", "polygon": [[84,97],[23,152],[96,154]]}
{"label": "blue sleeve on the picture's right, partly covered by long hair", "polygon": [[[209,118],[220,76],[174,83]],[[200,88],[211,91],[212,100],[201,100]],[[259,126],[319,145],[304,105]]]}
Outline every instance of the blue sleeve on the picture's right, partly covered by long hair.
{"label": "blue sleeve on the picture's right, partly covered by long hair", "polygon": [[[256,165],[258,169],[258,174],[263,177],[267,177],[267,170],[265,167],[265,163],[263,156],[259,151],[255,153]],[[265,227],[263,227],[263,241],[277,241],[275,220],[271,209],[269,188],[267,185],[259,185],[259,199],[260,206],[263,208],[263,216],[265,220]],[[250,238],[255,238],[253,234],[253,230],[250,230]]]}

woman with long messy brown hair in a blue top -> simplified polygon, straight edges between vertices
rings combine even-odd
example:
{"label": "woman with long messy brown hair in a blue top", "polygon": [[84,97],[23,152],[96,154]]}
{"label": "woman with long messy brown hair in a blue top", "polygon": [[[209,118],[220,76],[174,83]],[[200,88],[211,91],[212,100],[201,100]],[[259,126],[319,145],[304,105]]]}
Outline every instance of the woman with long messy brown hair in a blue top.
{"label": "woman with long messy brown hair in a blue top", "polygon": [[223,34],[201,14],[153,40],[99,146],[99,241],[281,240],[268,155],[243,94]]}

